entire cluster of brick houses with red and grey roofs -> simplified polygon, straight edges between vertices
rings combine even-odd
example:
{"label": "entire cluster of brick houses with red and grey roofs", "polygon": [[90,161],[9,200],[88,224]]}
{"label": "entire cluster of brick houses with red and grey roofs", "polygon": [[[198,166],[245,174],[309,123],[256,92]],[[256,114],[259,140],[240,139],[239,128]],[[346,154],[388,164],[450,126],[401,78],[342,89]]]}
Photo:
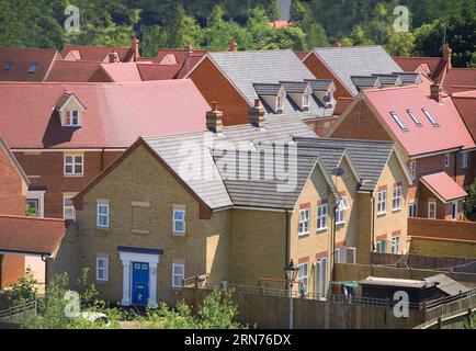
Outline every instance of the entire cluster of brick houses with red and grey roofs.
{"label": "entire cluster of brick houses with red and grey roofs", "polygon": [[447,47],[415,59],[0,49],[0,196],[15,203],[0,205],[0,287],[34,257],[46,281],[89,268],[107,301],[156,305],[189,276],[256,285],[292,260],[296,290],[324,298],[335,263],[410,252],[410,217],[467,222],[476,73],[460,83]]}

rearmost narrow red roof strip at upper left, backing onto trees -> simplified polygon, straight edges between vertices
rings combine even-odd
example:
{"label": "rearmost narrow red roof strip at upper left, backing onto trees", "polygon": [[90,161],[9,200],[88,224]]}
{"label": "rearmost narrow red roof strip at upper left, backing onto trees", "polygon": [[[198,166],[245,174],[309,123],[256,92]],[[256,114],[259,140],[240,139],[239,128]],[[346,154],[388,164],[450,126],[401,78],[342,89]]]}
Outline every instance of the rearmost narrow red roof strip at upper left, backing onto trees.
{"label": "rearmost narrow red roof strip at upper left, backing onto trees", "polygon": [[77,57],[78,53],[81,60],[103,63],[106,60],[110,53],[117,53],[121,61],[129,61],[132,59],[131,47],[120,46],[89,46],[89,45],[65,45],[61,50],[61,56],[65,58],[69,52],[73,52]]}

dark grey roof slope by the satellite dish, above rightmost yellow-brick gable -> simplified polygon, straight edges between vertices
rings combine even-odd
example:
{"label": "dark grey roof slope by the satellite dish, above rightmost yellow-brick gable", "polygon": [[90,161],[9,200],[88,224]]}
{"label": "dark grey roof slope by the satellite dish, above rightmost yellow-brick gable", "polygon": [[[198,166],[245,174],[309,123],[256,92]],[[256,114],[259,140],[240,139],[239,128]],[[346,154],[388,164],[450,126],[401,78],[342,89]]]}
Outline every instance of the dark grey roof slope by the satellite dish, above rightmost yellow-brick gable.
{"label": "dark grey roof slope by the satellite dish, above rightmost yellow-brick gable", "polygon": [[[299,148],[322,152],[326,148],[345,149],[362,179],[360,190],[372,191],[377,185],[382,171],[390,157],[393,141],[352,140],[352,139],[307,139],[294,138]],[[328,154],[329,156],[331,154]],[[325,158],[322,157],[322,160]],[[329,160],[330,167],[337,167],[336,158]],[[336,165],[336,166],[333,166]]]}

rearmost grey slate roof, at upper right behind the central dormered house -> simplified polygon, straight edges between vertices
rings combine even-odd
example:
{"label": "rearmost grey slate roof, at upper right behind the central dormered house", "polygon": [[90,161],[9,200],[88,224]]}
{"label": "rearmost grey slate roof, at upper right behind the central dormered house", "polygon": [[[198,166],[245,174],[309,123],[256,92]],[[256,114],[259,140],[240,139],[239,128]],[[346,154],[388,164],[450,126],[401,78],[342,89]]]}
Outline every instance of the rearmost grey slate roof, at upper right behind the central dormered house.
{"label": "rearmost grey slate roof, at upper right behind the central dormered house", "polygon": [[401,71],[400,67],[379,45],[318,47],[311,50],[353,94],[358,89],[352,76],[372,76]]}

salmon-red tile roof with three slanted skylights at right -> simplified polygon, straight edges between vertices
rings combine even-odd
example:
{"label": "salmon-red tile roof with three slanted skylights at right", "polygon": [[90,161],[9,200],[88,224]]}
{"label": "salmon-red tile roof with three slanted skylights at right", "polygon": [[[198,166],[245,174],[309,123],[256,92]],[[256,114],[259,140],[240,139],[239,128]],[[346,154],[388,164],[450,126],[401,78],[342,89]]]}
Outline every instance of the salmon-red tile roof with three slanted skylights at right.
{"label": "salmon-red tile roof with three slanted skylights at right", "polygon": [[[409,156],[443,151],[452,148],[475,147],[451,98],[443,98],[441,103],[428,98],[418,86],[401,88],[370,89],[363,97],[378,112],[382,121],[405,148]],[[433,126],[423,113],[426,107],[439,126]],[[407,112],[411,109],[421,126],[411,120]],[[403,131],[390,115],[395,111],[406,126]]]}

